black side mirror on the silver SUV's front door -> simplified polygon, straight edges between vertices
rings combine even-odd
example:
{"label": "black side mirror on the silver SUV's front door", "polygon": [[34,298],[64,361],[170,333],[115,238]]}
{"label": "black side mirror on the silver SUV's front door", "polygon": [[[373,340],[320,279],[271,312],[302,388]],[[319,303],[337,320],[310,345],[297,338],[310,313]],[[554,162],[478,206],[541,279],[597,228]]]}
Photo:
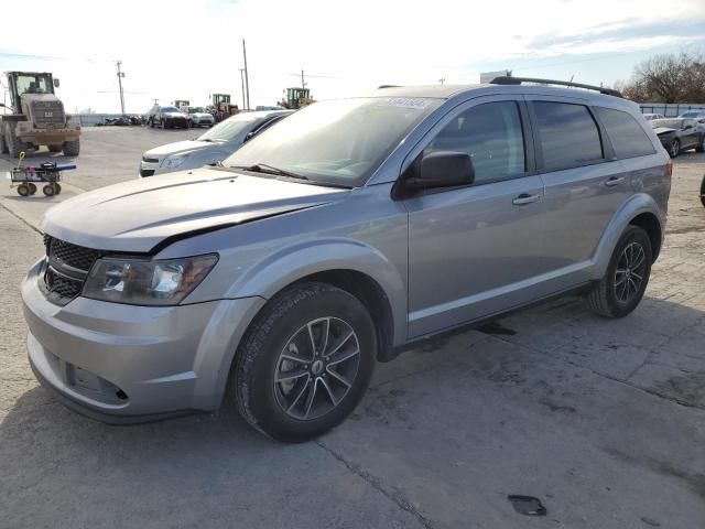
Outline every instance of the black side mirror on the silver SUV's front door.
{"label": "black side mirror on the silver SUV's front door", "polygon": [[437,151],[423,156],[419,174],[404,181],[410,191],[455,187],[475,182],[475,168],[469,154]]}

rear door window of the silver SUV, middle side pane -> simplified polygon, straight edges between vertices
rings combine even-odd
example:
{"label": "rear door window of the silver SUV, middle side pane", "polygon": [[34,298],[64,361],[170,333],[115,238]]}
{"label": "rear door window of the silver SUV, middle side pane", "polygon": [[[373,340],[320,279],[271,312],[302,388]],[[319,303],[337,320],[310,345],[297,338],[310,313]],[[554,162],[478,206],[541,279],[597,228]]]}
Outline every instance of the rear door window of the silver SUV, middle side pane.
{"label": "rear door window of the silver SUV, middle side pane", "polygon": [[539,120],[544,169],[576,168],[604,158],[599,130],[587,107],[534,101],[533,108]]}

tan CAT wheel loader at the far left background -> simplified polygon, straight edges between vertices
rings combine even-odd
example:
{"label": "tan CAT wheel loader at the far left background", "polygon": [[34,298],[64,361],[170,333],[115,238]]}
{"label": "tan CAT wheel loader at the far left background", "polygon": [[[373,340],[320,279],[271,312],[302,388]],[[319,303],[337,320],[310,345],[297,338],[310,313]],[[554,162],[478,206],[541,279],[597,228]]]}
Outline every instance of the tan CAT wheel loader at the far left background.
{"label": "tan CAT wheel loader at the far left background", "polygon": [[0,151],[17,158],[28,149],[48,147],[52,152],[64,151],[77,156],[80,151],[80,125],[70,121],[64,104],[54,88],[58,79],[50,73],[7,72],[10,110],[1,116]]}

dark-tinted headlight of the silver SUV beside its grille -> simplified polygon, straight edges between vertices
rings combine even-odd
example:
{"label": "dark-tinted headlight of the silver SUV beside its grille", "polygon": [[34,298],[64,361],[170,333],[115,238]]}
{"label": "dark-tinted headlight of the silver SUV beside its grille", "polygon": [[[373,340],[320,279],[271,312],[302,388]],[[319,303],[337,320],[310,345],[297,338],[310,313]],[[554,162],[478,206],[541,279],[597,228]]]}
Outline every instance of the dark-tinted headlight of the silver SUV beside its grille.
{"label": "dark-tinted headlight of the silver SUV beside its grille", "polygon": [[132,305],[176,305],[217,261],[215,255],[161,261],[98,259],[90,269],[83,295]]}

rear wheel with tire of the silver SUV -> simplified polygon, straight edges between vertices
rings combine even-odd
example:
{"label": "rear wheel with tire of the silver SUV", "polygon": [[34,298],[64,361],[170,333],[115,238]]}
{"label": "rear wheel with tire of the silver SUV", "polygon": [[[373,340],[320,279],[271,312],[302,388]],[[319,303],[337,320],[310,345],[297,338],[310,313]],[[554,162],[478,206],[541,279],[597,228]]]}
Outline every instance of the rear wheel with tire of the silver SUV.
{"label": "rear wheel with tire of the silver SUV", "polygon": [[[615,246],[605,276],[586,296],[589,309],[605,317],[623,317],[633,311],[649,284],[652,260],[649,235],[643,228],[629,225]],[[626,269],[630,271],[620,272]]]}

